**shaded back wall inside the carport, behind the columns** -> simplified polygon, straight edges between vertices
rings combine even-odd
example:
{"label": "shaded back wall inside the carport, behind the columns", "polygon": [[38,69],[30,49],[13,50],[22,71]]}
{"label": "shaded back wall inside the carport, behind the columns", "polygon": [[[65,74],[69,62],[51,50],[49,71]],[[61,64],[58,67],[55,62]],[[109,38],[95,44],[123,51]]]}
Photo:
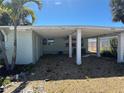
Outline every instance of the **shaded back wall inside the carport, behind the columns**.
{"label": "shaded back wall inside the carport, behind the columns", "polygon": [[[53,38],[55,41],[55,44],[53,45],[43,45],[43,53],[44,54],[58,54],[59,51],[62,51],[64,54],[68,54],[69,47],[66,46],[66,43],[69,41],[64,38]],[[82,48],[86,48],[86,52],[88,51],[88,39],[84,39],[84,46]],[[73,43],[76,43],[75,40],[73,40]],[[73,46],[73,49],[76,48]]]}

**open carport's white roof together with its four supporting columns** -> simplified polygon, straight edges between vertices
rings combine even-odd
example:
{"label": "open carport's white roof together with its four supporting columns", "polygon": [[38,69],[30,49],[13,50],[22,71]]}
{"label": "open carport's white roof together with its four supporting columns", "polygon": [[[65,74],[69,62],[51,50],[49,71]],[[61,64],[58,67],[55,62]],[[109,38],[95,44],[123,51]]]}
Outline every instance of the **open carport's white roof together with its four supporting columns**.
{"label": "open carport's white roof together with its four supporting columns", "polygon": [[124,62],[124,29],[115,27],[100,26],[46,26],[34,27],[33,30],[46,38],[68,37],[69,57],[72,57],[72,38],[76,39],[76,64],[82,64],[81,40],[97,39],[97,56],[100,57],[100,38],[106,36],[118,36],[118,57],[117,61]]}

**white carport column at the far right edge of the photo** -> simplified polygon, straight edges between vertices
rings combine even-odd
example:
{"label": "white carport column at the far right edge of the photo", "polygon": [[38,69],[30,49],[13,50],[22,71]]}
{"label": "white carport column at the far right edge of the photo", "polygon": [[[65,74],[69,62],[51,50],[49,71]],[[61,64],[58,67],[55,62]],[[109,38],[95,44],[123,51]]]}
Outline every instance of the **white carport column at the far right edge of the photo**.
{"label": "white carport column at the far right edge of the photo", "polygon": [[124,62],[124,33],[118,35],[118,63]]}

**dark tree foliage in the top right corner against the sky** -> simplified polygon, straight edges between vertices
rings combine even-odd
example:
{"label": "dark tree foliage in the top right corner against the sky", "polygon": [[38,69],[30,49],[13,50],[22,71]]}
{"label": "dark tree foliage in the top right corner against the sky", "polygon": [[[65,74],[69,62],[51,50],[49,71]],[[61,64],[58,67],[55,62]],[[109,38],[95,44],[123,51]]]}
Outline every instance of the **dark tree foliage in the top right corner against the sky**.
{"label": "dark tree foliage in the top right corner against the sky", "polygon": [[124,23],[124,0],[111,0],[112,20]]}

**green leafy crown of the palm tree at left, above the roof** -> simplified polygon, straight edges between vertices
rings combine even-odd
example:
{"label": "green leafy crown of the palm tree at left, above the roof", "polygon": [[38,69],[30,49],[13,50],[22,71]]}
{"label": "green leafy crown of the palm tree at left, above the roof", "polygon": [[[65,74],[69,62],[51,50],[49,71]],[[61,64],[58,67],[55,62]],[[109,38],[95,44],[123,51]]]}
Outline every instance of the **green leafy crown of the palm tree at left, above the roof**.
{"label": "green leafy crown of the palm tree at left, above the roof", "polygon": [[[4,6],[11,11],[8,12],[7,9],[4,9],[5,12],[8,12],[13,24],[20,25],[24,20],[26,20],[27,16],[32,17],[32,23],[34,23],[36,17],[35,13],[30,7],[26,7],[25,4],[33,2],[38,5],[39,9],[41,9],[41,0],[11,0],[4,2]],[[0,13],[4,12],[2,8],[0,9]],[[21,22],[21,23],[20,23]],[[23,23],[22,23],[23,24]]]}

